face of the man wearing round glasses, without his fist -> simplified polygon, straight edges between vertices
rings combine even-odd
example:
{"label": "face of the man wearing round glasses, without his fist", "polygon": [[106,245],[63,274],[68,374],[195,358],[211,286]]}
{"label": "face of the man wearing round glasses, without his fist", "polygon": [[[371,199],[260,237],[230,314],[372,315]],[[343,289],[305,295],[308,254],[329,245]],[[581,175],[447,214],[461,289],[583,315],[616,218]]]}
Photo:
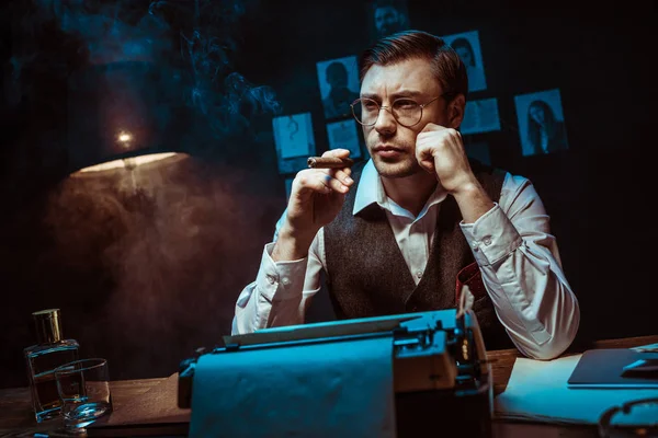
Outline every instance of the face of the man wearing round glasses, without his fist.
{"label": "face of the man wearing round glasses, without his fist", "polygon": [[385,177],[410,176],[424,172],[416,160],[416,137],[428,123],[449,126],[446,102],[438,99],[422,110],[421,120],[412,127],[399,125],[388,111],[394,101],[407,97],[426,104],[441,95],[441,84],[426,59],[408,59],[389,66],[374,65],[365,73],[361,96],[376,101],[377,122],[363,126],[363,136],[377,172]]}

